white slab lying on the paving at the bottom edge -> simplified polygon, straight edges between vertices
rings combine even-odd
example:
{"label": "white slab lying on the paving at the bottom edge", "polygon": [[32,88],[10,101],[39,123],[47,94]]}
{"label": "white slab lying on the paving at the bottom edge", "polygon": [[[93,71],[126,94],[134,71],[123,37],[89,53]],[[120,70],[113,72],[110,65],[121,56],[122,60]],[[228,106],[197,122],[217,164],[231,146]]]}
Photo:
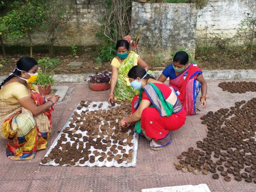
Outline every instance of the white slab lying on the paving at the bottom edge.
{"label": "white slab lying on the paving at the bottom edge", "polygon": [[141,192],[211,192],[206,184],[142,189]]}

